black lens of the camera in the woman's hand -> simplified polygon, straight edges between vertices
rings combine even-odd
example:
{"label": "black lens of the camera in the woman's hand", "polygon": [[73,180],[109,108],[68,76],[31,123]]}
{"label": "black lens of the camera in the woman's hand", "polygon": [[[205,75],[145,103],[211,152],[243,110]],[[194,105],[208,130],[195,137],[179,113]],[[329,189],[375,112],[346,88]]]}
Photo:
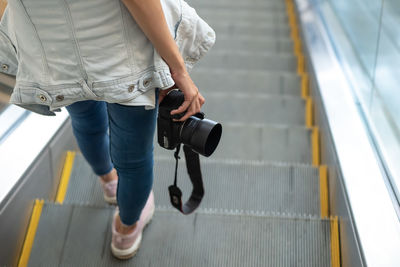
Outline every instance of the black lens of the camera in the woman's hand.
{"label": "black lens of the camera in the woman's hand", "polygon": [[181,127],[182,143],[206,157],[214,153],[221,139],[222,125],[220,123],[191,116]]}

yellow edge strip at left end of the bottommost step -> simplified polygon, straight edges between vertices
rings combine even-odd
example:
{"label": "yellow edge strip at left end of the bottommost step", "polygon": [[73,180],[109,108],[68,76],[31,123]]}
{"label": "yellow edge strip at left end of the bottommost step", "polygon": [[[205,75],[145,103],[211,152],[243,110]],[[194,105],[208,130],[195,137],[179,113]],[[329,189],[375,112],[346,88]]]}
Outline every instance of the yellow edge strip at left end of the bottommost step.
{"label": "yellow edge strip at left end of the bottommost step", "polygon": [[33,246],[33,241],[35,240],[36,229],[39,225],[40,216],[42,214],[44,200],[35,200],[35,205],[33,206],[31,220],[29,222],[28,231],[26,233],[24,246],[22,248],[21,257],[18,261],[18,267],[25,267],[28,265],[29,257],[31,255],[31,250]]}

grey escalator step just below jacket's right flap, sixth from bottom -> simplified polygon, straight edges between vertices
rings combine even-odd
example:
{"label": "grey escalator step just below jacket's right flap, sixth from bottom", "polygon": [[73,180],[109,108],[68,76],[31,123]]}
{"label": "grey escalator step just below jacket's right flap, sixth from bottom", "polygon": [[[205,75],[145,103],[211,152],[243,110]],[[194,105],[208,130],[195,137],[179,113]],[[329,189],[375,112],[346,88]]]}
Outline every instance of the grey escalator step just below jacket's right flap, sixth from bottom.
{"label": "grey escalator step just below jacket's right flap, sixth from bottom", "polygon": [[202,68],[225,68],[242,70],[269,70],[295,72],[297,69],[297,58],[292,54],[264,54],[257,52],[237,51],[231,52],[214,51],[202,59],[199,64]]}

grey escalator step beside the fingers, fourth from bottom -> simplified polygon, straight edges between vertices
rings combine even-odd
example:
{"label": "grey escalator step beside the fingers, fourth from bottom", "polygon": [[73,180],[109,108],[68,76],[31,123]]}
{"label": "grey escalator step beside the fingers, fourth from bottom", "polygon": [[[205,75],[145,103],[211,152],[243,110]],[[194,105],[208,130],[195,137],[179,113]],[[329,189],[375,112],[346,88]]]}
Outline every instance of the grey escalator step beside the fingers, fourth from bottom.
{"label": "grey escalator step beside the fingers, fourth from bottom", "polygon": [[221,123],[304,125],[305,101],[298,96],[208,93],[202,111]]}

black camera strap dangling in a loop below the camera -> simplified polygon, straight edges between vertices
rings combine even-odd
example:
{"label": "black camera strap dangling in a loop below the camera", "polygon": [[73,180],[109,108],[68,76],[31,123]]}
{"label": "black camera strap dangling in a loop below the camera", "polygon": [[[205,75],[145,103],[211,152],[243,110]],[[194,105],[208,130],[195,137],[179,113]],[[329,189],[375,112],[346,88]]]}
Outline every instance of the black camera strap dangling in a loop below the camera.
{"label": "black camera strap dangling in a loop below the camera", "polygon": [[174,153],[176,160],[175,163],[175,179],[174,184],[168,187],[169,196],[172,206],[178,209],[183,214],[192,213],[199,205],[204,196],[203,178],[200,169],[200,158],[199,154],[193,152],[193,150],[187,146],[183,146],[183,151],[185,153],[186,168],[190,177],[190,181],[193,185],[192,194],[189,200],[182,205],[182,191],[177,185],[178,179],[178,162],[179,162],[179,151],[181,149],[181,144],[179,144]]}

